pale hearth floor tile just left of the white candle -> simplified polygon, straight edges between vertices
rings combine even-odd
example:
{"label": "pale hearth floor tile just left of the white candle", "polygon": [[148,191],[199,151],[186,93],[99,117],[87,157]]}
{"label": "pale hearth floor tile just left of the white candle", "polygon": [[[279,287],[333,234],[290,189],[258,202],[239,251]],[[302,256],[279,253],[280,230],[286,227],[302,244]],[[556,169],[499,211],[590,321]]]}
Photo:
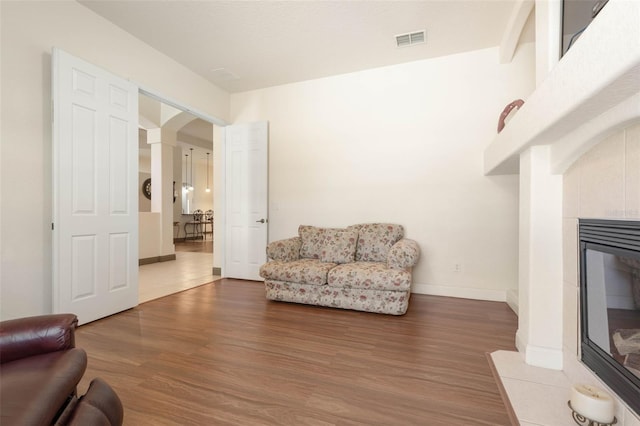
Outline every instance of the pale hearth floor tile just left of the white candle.
{"label": "pale hearth floor tile just left of the white candle", "polygon": [[521,422],[545,426],[575,426],[567,405],[569,387],[503,378],[502,384]]}

